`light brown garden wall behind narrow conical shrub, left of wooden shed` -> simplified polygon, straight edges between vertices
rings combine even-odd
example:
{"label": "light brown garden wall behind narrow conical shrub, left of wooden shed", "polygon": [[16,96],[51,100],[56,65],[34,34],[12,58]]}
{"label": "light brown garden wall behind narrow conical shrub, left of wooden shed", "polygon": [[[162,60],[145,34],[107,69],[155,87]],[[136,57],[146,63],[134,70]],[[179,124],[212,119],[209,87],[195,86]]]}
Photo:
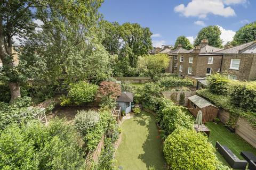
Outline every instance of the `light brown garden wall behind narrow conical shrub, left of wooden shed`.
{"label": "light brown garden wall behind narrow conical shrub, left of wooden shed", "polygon": [[[174,101],[177,105],[179,105],[179,101],[180,101],[180,94],[182,93],[182,91],[163,91],[162,94],[166,97],[171,99],[172,101]],[[188,106],[188,98],[190,96],[194,96],[196,95],[195,91],[187,91],[184,92],[185,94],[185,104],[183,106]]]}

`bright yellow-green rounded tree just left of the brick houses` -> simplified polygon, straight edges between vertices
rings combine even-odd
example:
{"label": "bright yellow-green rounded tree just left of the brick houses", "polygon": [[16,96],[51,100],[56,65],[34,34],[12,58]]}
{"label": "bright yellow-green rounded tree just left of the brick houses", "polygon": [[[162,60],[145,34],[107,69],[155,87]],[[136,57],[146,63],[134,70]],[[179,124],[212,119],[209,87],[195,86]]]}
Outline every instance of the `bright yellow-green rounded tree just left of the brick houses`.
{"label": "bright yellow-green rounded tree just left of the brick houses", "polygon": [[151,78],[163,72],[169,66],[170,58],[166,54],[145,55],[139,57],[138,70]]}

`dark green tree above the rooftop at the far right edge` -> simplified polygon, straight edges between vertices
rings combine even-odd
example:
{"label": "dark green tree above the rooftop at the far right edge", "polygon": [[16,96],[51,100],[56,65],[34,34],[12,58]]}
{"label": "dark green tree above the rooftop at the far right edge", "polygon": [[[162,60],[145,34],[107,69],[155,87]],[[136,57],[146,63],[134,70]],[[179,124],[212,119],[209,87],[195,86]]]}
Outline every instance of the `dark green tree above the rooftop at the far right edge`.
{"label": "dark green tree above the rooftop at the far right edge", "polygon": [[236,31],[232,45],[249,43],[253,40],[256,40],[256,21],[246,24]]}

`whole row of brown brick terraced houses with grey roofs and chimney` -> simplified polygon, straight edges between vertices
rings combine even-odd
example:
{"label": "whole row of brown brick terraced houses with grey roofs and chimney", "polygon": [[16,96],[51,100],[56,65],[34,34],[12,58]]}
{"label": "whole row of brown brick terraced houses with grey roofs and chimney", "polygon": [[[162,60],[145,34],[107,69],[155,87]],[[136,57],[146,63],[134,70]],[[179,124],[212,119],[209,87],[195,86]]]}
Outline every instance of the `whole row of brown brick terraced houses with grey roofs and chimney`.
{"label": "whole row of brown brick terraced houses with grey roofs and chimney", "polygon": [[194,78],[206,77],[214,72],[227,74],[229,79],[256,80],[256,41],[220,49],[202,40],[200,46],[186,50],[181,47],[168,53],[168,73]]}

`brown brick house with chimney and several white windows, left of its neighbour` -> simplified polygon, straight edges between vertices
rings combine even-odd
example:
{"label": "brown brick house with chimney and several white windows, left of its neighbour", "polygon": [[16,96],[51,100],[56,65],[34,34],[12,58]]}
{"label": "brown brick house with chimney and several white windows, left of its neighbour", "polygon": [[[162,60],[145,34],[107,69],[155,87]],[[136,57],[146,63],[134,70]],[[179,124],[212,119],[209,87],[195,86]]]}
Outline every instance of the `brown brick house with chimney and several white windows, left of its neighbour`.
{"label": "brown brick house with chimney and several white windows, left of its neighbour", "polygon": [[190,75],[205,77],[213,72],[220,72],[221,54],[213,54],[220,48],[209,46],[208,40],[202,40],[200,46],[178,54],[177,72],[179,76]]}

